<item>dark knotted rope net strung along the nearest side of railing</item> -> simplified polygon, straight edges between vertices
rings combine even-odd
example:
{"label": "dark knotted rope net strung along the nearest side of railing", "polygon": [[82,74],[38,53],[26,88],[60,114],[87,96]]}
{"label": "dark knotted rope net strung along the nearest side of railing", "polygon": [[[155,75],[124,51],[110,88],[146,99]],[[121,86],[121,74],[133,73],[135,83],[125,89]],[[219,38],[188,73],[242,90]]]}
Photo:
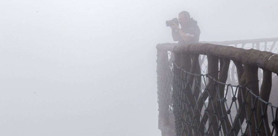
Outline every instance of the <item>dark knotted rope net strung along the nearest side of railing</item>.
{"label": "dark knotted rope net strung along the nearest side of railing", "polygon": [[[277,107],[271,105],[259,96],[256,96],[252,90],[242,85],[224,84],[215,80],[210,75],[196,75],[186,72],[174,64],[173,68],[173,113],[175,116],[175,129],[177,135],[260,135],[261,128],[266,135],[277,135]],[[194,84],[190,84],[194,80]],[[201,81],[205,82],[201,86]],[[221,88],[222,86],[222,88]],[[224,86],[224,90],[223,90]],[[212,88],[212,89],[209,89]],[[246,95],[241,91],[243,102],[237,99],[237,93],[246,90]],[[199,91],[198,97],[194,97]],[[227,100],[228,91],[232,92],[232,99]],[[221,93],[225,95],[221,96]],[[213,97],[217,95],[217,97]],[[192,97],[193,96],[193,97]],[[245,97],[243,97],[245,96]],[[247,98],[251,97],[251,109],[247,107]],[[193,103],[197,103],[194,105]],[[242,103],[243,106],[239,106]],[[258,103],[261,103],[261,113],[257,113]],[[267,109],[271,109],[271,116],[267,118]],[[251,113],[248,113],[248,110]],[[246,115],[246,119],[240,115]],[[257,115],[260,114],[261,121],[258,122]],[[200,116],[201,115],[201,116]],[[248,116],[250,115],[250,116]],[[256,120],[250,124],[250,120]],[[272,122],[268,122],[268,120]],[[255,125],[255,130],[251,129]],[[271,133],[266,131],[271,128]],[[229,129],[228,129],[229,128]]]}

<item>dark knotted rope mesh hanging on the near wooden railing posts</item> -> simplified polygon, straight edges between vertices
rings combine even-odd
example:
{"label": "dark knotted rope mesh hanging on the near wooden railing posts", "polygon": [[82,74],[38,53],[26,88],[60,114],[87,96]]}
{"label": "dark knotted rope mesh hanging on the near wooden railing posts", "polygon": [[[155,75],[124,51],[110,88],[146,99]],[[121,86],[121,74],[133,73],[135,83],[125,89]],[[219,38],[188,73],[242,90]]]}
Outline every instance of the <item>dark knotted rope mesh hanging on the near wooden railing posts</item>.
{"label": "dark knotted rope mesh hanging on the near wooden railing posts", "polygon": [[[260,130],[261,127],[266,128],[267,126],[271,126],[272,127],[272,134],[266,134],[267,135],[273,135],[273,132],[275,132],[275,135],[277,135],[277,124],[275,122],[277,122],[277,120],[275,119],[275,114],[277,114],[277,107],[271,105],[271,103],[265,102],[263,101],[259,96],[256,96],[254,93],[252,93],[252,90],[248,89],[247,87],[245,87],[245,89],[247,90],[247,94],[245,98],[243,99],[243,105],[245,106],[245,110],[239,110],[239,106],[238,106],[238,101],[237,101],[237,97],[236,97],[236,93],[238,92],[239,88],[244,88],[244,86],[241,85],[231,85],[231,84],[224,84],[221,82],[218,82],[217,80],[213,79],[211,76],[209,75],[194,75],[191,73],[188,73],[186,71],[184,71],[183,69],[181,69],[180,67],[177,67],[176,65],[174,65],[173,68],[173,73],[174,73],[174,81],[173,81],[173,101],[172,101],[172,107],[173,107],[173,111],[174,111],[174,115],[175,115],[175,124],[176,124],[176,133],[177,135],[208,135],[209,134],[209,129],[211,127],[217,127],[217,131],[214,131],[212,129],[212,135],[238,135],[237,132],[235,132],[235,125],[240,126],[240,133],[239,135],[245,135],[247,134],[247,131],[249,129],[249,131],[256,131],[256,135],[258,135],[260,132],[258,130]],[[196,98],[188,98],[186,93],[185,93],[185,88],[190,88],[190,93],[193,94],[193,92],[195,92],[193,90],[192,85],[189,84],[189,75],[192,75],[194,80],[196,81],[196,84],[194,84],[196,86],[195,89],[197,88],[204,88],[203,92],[200,92],[200,97],[199,99],[203,101],[204,105],[203,107],[201,107],[200,105],[197,104],[196,106],[196,111],[194,111],[195,107],[192,107],[190,105],[191,101],[196,101]],[[203,82],[206,82],[206,79],[208,80],[208,78],[211,79],[211,82],[206,83],[206,86],[201,86],[198,82],[203,80]],[[219,90],[219,85],[225,85],[226,90]],[[209,92],[208,88],[209,86],[213,86],[214,89],[212,90],[212,92]],[[233,88],[236,88],[235,90]],[[232,91],[232,100],[231,101],[227,101],[227,95],[225,95],[225,97],[220,97],[220,91],[228,91],[231,90]],[[214,94],[217,94],[217,98],[213,98]],[[243,92],[241,92],[243,93]],[[208,95],[208,101],[205,102],[206,98],[204,98],[204,95],[207,94]],[[226,93],[227,94],[227,93]],[[247,107],[246,107],[246,99],[247,96],[251,97],[252,101],[252,108],[250,109],[251,116],[248,116],[247,114]],[[242,94],[242,96],[244,96]],[[213,105],[213,101],[217,100],[219,102],[218,105]],[[261,117],[262,117],[262,122],[255,122],[255,124],[250,124],[249,120],[254,118],[256,119],[256,110],[255,109],[255,104],[256,103],[264,103],[266,104],[266,107],[264,108],[263,106],[261,106]],[[211,108],[208,108],[211,107]],[[266,110],[268,108],[271,108],[271,120],[272,122],[270,122],[271,124],[265,124],[266,123]],[[226,114],[224,114],[224,110],[226,110]],[[220,111],[220,115],[217,116],[217,111]],[[202,115],[201,118],[199,118],[200,121],[196,121],[196,114],[200,114]],[[206,116],[209,116],[209,112],[212,113],[212,118],[208,118]],[[243,120],[240,119],[239,115],[245,112],[246,113],[246,122],[243,122]],[[227,116],[229,118],[229,122],[226,122],[224,120],[224,117]],[[217,124],[216,126],[212,126],[212,123],[214,120],[216,120]],[[195,126],[194,126],[194,122]],[[221,126],[223,126],[222,124],[224,124],[224,128],[222,128]],[[232,129],[227,130],[227,124],[234,124],[234,126],[232,126]],[[250,125],[256,125],[256,130],[251,130]],[[197,129],[197,131],[193,131],[192,129]],[[226,129],[226,133],[223,133],[222,129]],[[275,131],[274,131],[275,129]]]}

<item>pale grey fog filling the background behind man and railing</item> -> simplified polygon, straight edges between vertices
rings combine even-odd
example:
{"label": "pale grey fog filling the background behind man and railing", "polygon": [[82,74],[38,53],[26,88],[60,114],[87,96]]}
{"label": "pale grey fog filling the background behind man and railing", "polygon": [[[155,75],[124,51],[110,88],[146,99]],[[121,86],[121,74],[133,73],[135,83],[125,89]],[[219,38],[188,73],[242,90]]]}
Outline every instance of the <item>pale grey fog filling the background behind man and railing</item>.
{"label": "pale grey fog filling the background behind man and railing", "polygon": [[278,37],[272,1],[0,0],[0,135],[159,136],[156,44]]}

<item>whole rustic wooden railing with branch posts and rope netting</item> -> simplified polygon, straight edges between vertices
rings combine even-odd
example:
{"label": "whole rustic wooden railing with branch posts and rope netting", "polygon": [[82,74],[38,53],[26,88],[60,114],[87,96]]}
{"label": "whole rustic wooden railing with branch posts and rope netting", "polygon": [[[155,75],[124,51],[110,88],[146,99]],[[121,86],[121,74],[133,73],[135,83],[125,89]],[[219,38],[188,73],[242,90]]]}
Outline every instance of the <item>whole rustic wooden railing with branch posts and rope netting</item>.
{"label": "whole rustic wooden railing with branch posts and rope netting", "polygon": [[[277,135],[277,105],[269,103],[272,72],[278,72],[277,40],[158,44],[162,134],[174,135],[175,130],[176,135]],[[268,116],[267,109],[273,116]]]}

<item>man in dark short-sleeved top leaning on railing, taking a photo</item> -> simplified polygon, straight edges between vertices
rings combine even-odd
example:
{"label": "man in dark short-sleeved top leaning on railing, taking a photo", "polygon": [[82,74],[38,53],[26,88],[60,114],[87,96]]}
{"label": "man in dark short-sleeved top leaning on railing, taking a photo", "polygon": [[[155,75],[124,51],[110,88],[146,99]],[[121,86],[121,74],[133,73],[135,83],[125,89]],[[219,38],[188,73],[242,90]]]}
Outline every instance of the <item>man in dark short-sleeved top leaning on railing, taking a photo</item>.
{"label": "man in dark short-sleeved top leaning on railing, taking a photo", "polygon": [[179,41],[178,45],[198,43],[201,32],[197,21],[190,18],[190,14],[187,11],[180,12],[178,19],[181,28],[176,23],[170,26],[172,28],[173,40]]}

